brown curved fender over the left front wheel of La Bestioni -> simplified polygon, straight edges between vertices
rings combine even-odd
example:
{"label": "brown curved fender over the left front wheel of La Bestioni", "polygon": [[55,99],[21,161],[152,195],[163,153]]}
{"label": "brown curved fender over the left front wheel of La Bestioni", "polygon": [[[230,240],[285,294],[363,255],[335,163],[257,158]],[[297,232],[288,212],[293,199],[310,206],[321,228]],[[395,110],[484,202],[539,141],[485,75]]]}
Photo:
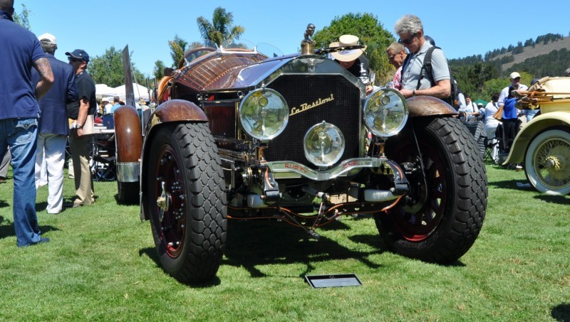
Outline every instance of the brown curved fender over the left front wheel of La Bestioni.
{"label": "brown curved fender over the left front wheel of La Bestioni", "polygon": [[[141,173],[146,173],[147,163],[145,160],[148,159],[149,154],[156,153],[157,151],[148,151],[144,149],[150,141],[152,141],[152,136],[155,130],[161,126],[161,124],[167,124],[172,122],[207,122],[208,119],[204,111],[199,108],[196,104],[188,102],[186,100],[169,100],[160,104],[155,112],[150,116],[150,120],[147,123],[145,129],[145,141],[143,142],[143,154],[141,160]],[[145,180],[140,181],[140,190],[142,193],[147,190],[147,182]],[[156,200],[155,200],[156,201]],[[147,220],[146,217],[148,213],[148,203],[149,200],[142,200],[140,204],[140,220]]]}

